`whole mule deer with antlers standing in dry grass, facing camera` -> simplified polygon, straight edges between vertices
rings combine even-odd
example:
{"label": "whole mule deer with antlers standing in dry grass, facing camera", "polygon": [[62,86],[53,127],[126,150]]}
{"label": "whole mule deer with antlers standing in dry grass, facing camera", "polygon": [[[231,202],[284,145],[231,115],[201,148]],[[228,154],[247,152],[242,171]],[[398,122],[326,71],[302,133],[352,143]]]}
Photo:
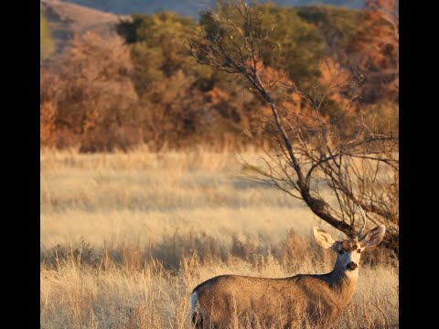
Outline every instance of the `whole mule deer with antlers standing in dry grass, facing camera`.
{"label": "whole mule deer with antlers standing in dry grass, facing camera", "polygon": [[[316,243],[337,252],[334,270],[327,274],[298,274],[289,278],[268,279],[220,275],[204,281],[190,297],[192,323],[196,328],[227,328],[234,315],[250,324],[283,328],[308,324],[329,327],[348,305],[359,278],[361,251],[378,245],[386,228],[380,225],[364,237],[363,227],[354,239],[336,241],[329,233],[314,228]],[[235,317],[236,319],[236,317]]]}

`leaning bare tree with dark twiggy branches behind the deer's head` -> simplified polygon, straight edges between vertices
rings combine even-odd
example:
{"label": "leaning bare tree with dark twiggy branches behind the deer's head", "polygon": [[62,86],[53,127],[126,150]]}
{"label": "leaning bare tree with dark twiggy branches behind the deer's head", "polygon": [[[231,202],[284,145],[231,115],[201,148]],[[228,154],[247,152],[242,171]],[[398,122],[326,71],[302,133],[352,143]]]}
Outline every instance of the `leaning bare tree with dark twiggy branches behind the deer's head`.
{"label": "leaning bare tree with dark twiggy branches behind the deer's head", "polygon": [[[398,254],[397,126],[389,123],[383,130],[381,124],[379,130],[376,121],[363,119],[361,80],[353,75],[340,81],[334,74],[322,88],[313,80],[295,82],[281,66],[270,73],[267,63],[283,63],[288,54],[271,38],[273,26],[260,24],[261,8],[243,0],[221,2],[205,14],[209,25],[189,40],[199,63],[250,84],[270,109],[274,147],[263,166],[248,165],[249,177],[303,200],[318,218],[349,237],[359,228],[357,206],[363,207],[370,223],[389,228],[383,244]],[[267,61],[266,54],[275,60]],[[327,115],[340,83],[350,84],[352,95],[340,102],[342,114]],[[297,100],[302,111],[291,111]]]}

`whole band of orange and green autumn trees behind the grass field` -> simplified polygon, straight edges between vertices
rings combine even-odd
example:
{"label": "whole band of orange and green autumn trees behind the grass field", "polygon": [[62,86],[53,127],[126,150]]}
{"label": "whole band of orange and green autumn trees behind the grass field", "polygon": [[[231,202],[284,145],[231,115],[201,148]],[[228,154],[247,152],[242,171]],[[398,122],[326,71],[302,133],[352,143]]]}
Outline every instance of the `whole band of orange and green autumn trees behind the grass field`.
{"label": "whole band of orange and green autumn trees behind the grass field", "polygon": [[[389,112],[397,117],[399,32],[393,2],[369,1],[361,10],[262,8],[262,30],[274,24],[271,41],[291,54],[282,63],[273,58],[275,51],[261,58],[268,84],[279,84],[289,71],[296,78],[282,80],[279,92],[296,83],[330,90],[327,120],[360,109],[371,117]],[[196,23],[159,13],[120,22],[119,36],[76,35],[62,54],[41,63],[41,145],[81,152],[139,144],[158,150],[202,143],[218,151],[262,145],[270,127],[260,96],[237,83],[242,81],[199,65],[187,49],[188,37],[203,24],[209,27],[209,16]],[[361,80],[362,96],[347,106],[352,77]],[[306,104],[293,97],[286,111],[306,116]]]}

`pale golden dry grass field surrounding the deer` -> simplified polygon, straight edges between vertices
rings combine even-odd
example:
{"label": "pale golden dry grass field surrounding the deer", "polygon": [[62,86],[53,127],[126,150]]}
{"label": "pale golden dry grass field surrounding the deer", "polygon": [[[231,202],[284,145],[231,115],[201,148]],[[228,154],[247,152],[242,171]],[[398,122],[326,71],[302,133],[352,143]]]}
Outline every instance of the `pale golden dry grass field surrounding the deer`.
{"label": "pale golden dry grass field surrounding the deer", "polygon": [[[190,328],[190,292],[210,277],[330,271],[312,228],[341,235],[240,175],[227,153],[42,150],[41,328]],[[398,262],[380,248],[361,262],[337,328],[398,327]]]}

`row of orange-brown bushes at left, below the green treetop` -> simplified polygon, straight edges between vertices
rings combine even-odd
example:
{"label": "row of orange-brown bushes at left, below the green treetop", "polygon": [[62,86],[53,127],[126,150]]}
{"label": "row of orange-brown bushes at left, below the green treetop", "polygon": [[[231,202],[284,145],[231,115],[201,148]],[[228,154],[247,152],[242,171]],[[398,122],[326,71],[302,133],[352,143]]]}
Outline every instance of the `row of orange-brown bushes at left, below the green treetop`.
{"label": "row of orange-brown bushes at left, below the green treetop", "polygon": [[199,90],[178,70],[139,97],[133,70],[118,37],[89,32],[70,41],[41,76],[41,145],[98,152],[139,143],[151,149],[204,143],[218,150],[250,143],[241,132],[251,110],[227,91]]}

